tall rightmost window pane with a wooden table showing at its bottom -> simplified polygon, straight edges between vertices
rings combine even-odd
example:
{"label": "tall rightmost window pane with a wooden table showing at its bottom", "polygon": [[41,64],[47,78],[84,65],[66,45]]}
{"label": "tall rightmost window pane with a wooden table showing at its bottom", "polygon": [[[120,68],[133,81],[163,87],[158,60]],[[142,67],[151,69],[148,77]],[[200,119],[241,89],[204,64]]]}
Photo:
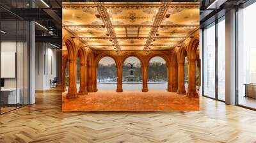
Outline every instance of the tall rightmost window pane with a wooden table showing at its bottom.
{"label": "tall rightmost window pane with a wooden table showing at its bottom", "polygon": [[256,3],[237,11],[237,104],[256,109]]}

